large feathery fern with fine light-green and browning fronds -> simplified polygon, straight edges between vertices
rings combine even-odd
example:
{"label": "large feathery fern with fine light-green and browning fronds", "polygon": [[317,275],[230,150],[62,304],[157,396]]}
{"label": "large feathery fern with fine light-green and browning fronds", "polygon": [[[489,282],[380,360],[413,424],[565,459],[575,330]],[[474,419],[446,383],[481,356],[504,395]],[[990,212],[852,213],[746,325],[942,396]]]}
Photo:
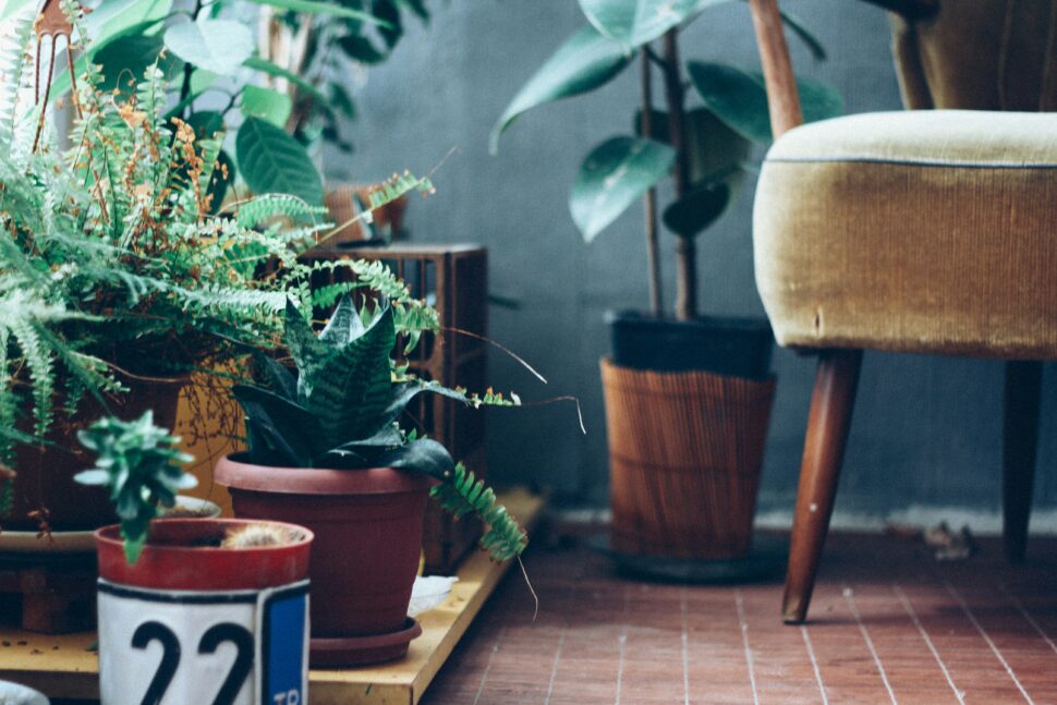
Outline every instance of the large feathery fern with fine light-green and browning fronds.
{"label": "large feathery fern with fine light-green and browning fronds", "polygon": [[[13,462],[15,442],[46,442],[60,409],[74,418],[90,398],[108,411],[131,380],[211,370],[247,350],[276,348],[290,296],[309,311],[344,291],[382,288],[403,332],[436,325],[378,265],[299,264],[297,254],[329,230],[305,200],[263,194],[214,212],[222,135],[199,137],[168,114],[158,63],[131,93],[111,95],[87,62],[70,147],[46,132],[41,148],[31,149],[36,121],[19,109],[20,89],[32,85],[31,28],[21,32],[24,44],[0,48],[0,70],[16,78],[0,92],[4,462]],[[372,207],[414,189],[430,186],[397,177]],[[313,272],[323,268],[353,277],[313,292]],[[10,483],[2,498],[12,501]]]}

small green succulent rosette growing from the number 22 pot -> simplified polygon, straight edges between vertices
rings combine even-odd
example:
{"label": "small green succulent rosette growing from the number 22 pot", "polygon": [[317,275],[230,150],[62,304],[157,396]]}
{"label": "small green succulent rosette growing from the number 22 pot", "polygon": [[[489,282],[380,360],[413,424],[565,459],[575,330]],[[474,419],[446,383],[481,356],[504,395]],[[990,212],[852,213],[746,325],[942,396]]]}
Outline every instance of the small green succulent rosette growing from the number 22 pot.
{"label": "small green succulent rosette growing from the number 22 pot", "polygon": [[198,484],[183,465],[194,460],[181,452],[180,439],[154,424],[154,412],[135,421],[101,418],[77,431],[81,443],[96,455],[95,467],[78,473],[83,485],[101,485],[110,490],[125,557],[134,563],[147,542],[150,520],[161,507],[173,507],[177,493]]}

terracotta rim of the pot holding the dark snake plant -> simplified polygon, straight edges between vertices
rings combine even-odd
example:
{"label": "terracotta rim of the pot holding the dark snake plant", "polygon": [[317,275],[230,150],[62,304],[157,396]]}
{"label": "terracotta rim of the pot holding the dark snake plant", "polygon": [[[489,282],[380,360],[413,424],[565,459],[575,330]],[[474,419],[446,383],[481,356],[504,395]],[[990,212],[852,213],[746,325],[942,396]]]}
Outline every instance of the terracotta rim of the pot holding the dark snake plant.
{"label": "terracotta rim of the pot holding the dark snake plant", "polygon": [[437,484],[428,475],[396,467],[332,470],[257,465],[246,453],[217,461],[214,478],[233,489],[278,495],[392,495],[421,493]]}

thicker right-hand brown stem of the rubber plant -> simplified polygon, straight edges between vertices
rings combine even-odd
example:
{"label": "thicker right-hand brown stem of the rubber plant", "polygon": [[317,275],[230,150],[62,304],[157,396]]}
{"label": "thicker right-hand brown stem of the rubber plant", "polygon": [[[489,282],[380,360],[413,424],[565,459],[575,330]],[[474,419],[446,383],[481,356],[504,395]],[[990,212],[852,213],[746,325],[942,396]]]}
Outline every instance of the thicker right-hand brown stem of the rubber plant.
{"label": "thicker right-hand brown stem of the rubber plant", "polygon": [[[687,154],[685,116],[683,97],[685,87],[679,66],[678,29],[671,28],[664,38],[665,99],[668,102],[668,133],[676,150],[676,199],[690,192],[690,155]],[[693,238],[676,240],[676,318],[692,320],[697,317],[696,243]]]}

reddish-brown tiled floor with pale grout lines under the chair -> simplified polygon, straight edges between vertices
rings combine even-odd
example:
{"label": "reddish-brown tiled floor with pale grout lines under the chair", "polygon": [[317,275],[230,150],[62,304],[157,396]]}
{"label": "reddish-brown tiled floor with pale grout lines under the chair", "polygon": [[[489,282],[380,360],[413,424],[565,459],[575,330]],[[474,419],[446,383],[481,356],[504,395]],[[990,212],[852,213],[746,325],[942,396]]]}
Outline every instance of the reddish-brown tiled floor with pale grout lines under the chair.
{"label": "reddish-brown tiled floor with pale grout lines under the chair", "polygon": [[537,534],[425,705],[1057,703],[1057,539],[1010,567],[996,540],[941,563],[920,543],[835,534],[811,621],[781,584],[649,583]]}

